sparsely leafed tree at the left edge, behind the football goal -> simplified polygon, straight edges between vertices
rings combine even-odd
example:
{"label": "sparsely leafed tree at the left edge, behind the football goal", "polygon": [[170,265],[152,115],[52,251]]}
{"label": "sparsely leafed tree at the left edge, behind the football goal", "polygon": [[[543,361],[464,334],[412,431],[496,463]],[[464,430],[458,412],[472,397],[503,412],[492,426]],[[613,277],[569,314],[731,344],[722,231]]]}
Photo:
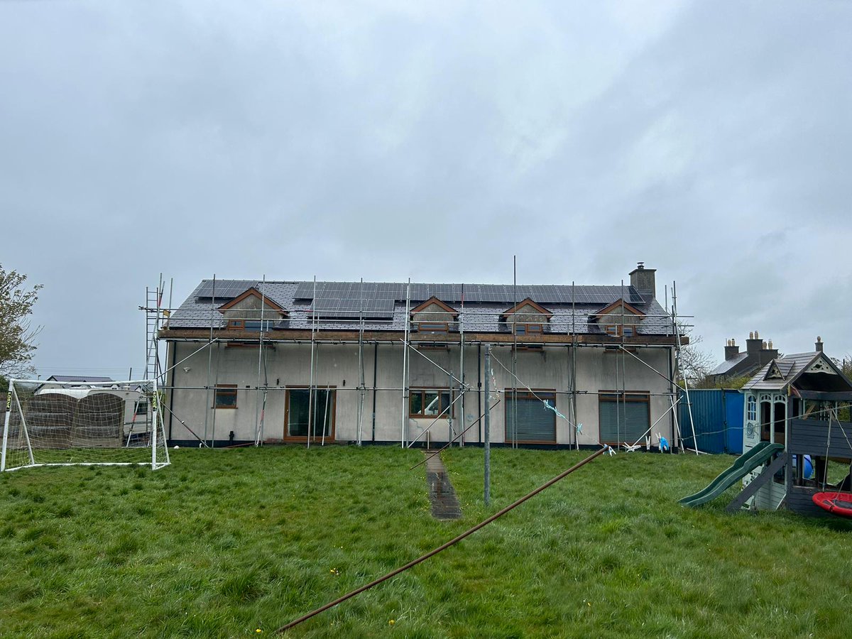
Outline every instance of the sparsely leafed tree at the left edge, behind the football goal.
{"label": "sparsely leafed tree at the left edge, behind the football goal", "polygon": [[0,383],[32,370],[29,362],[36,349],[35,338],[41,327],[30,324],[32,307],[42,285],[29,288],[26,275],[3,270],[0,264]]}

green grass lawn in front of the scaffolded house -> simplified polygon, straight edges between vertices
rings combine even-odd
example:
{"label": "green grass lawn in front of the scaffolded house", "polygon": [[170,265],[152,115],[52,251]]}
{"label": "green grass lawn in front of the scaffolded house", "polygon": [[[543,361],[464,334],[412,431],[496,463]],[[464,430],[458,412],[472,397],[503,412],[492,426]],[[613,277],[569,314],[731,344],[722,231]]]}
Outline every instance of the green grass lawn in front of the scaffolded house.
{"label": "green grass lawn in front of the scaffolded house", "polygon": [[[485,508],[482,450],[446,452],[463,519],[440,522],[420,452],[172,453],[0,476],[0,636],[271,635],[589,454],[493,450]],[[849,636],[849,522],[676,504],[732,459],[597,458],[288,636]]]}

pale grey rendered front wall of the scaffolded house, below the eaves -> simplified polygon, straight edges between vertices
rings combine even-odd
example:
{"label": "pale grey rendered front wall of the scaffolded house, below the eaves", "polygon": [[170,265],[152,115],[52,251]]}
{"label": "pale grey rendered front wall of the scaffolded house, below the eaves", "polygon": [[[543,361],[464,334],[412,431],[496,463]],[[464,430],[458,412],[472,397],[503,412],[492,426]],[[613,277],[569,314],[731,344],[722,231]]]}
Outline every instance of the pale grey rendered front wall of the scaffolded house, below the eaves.
{"label": "pale grey rendered front wall of the scaffolded house, below the eaves", "polygon": [[[175,351],[170,351],[170,361],[178,361],[197,350],[199,343],[171,343]],[[360,394],[356,390],[359,382],[358,346],[356,344],[318,344],[316,345],[316,366],[314,384],[320,387],[330,386],[337,389],[335,411],[336,440],[355,440],[357,437],[358,406]],[[412,440],[421,433],[432,420],[409,419],[407,406],[404,406],[400,393],[403,370],[402,345],[379,344],[376,367],[376,416],[375,435],[373,434],[373,359],[372,344],[364,348],[364,368],[366,393],[362,421],[362,438],[365,441],[399,441],[403,423],[406,426],[406,439]],[[464,349],[464,381],[470,389],[462,400],[454,403],[453,425],[458,433],[463,425],[475,422],[484,410],[485,398],[477,383],[484,381],[483,362],[480,355],[485,348],[468,346]],[[307,387],[310,383],[309,343],[275,344],[268,348],[265,374],[270,389],[267,393],[263,440],[280,440],[284,435],[285,389]],[[208,383],[208,358],[212,354],[210,386],[216,383],[237,384],[238,399],[236,409],[213,409],[212,392],[202,387]],[[409,387],[446,388],[450,385],[449,376],[440,370],[452,371],[458,376],[459,351],[424,349],[423,356],[410,354]],[[173,359],[174,356],[174,359]],[[435,362],[429,362],[426,358]],[[669,392],[666,380],[669,371],[669,351],[660,348],[639,348],[636,357],[648,366],[659,371],[659,375],[644,366],[629,354],[605,353],[603,348],[579,348],[577,354],[578,375],[578,418],[583,424],[579,443],[596,444],[598,440],[598,396],[601,390],[642,391],[652,394],[650,400],[651,423],[671,407],[671,400],[662,394]],[[511,374],[511,349],[508,345],[492,346],[492,388],[499,391],[496,397],[502,399],[502,392],[515,386],[524,389],[556,390],[556,409],[562,415],[573,416],[571,395],[567,392],[571,383],[571,348],[569,346],[546,347],[543,351],[519,351],[517,357],[517,376],[521,382],[515,383]],[[181,366],[176,367],[170,406],[175,417],[170,420],[171,439],[193,440],[194,437],[179,420],[197,435],[209,440],[227,440],[233,431],[236,440],[253,440],[256,435],[256,423],[263,400],[263,394],[255,389],[258,382],[258,351],[256,348],[227,348],[224,344],[214,344],[202,348],[193,354]],[[503,366],[501,366],[501,364]],[[437,366],[436,366],[437,365]],[[440,368],[439,368],[440,366]],[[188,370],[185,370],[188,369]],[[190,387],[190,389],[181,388]],[[167,415],[167,427],[168,427]],[[560,444],[573,444],[573,426],[561,418],[556,419],[556,441]],[[504,441],[505,406],[501,402],[491,415],[492,441]],[[671,433],[671,416],[665,415],[653,428],[674,441]],[[439,420],[429,429],[430,440],[448,440],[449,423]],[[481,424],[469,429],[464,439],[468,442],[480,440]],[[654,437],[654,443],[656,438]],[[633,443],[633,442],[629,442]]]}

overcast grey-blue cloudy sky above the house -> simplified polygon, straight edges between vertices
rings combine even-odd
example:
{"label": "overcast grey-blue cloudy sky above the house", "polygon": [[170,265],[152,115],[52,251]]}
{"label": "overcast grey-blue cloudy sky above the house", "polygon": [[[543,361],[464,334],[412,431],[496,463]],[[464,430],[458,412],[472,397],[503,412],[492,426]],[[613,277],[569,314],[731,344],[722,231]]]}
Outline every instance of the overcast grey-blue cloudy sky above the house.
{"label": "overcast grey-blue cloudy sky above the house", "polygon": [[[852,2],[0,0],[0,264],[42,377],[146,287],[676,283],[712,359],[852,356]],[[173,282],[173,285],[171,283]]]}

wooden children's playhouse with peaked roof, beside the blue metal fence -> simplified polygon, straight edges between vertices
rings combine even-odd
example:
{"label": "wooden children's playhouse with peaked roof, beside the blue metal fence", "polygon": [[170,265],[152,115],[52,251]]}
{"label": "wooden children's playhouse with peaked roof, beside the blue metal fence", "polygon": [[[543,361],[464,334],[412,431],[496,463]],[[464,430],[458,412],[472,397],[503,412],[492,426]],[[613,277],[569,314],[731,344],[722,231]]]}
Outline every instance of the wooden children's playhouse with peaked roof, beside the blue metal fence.
{"label": "wooden children's playhouse with peaked roof, beside the blue metal fence", "polygon": [[[783,505],[806,515],[824,515],[813,503],[814,494],[832,484],[849,490],[852,423],[841,421],[840,409],[852,402],[852,382],[826,356],[817,337],[815,351],[769,361],[742,392],[744,457],[772,444],[778,453],[772,463],[746,475],[746,489],[734,505],[749,499],[756,509]],[[827,460],[840,463],[829,470]],[[810,464],[812,476],[805,471]],[[832,477],[833,471],[839,475]]]}

